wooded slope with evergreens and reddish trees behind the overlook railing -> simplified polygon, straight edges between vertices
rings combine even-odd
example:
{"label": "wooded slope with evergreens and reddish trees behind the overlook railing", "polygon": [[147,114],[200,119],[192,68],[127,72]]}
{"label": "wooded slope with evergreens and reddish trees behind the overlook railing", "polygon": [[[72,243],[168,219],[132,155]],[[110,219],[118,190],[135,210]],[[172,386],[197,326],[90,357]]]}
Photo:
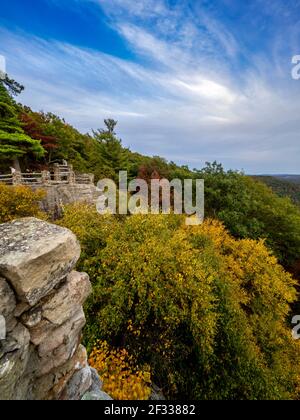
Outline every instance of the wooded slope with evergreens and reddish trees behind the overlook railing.
{"label": "wooded slope with evergreens and reddish trees behind the overlook railing", "polygon": [[18,141],[13,140],[14,150],[9,152],[3,148],[4,145],[1,146],[2,172],[9,171],[16,158],[20,157],[23,170],[42,169],[50,163],[67,160],[77,171],[94,173],[96,180],[115,178],[120,169],[127,170],[131,178],[139,172],[141,176],[151,176],[157,171],[163,177],[181,179],[191,174],[188,168],[179,167],[161,157],[142,156],[124,148],[114,132],[116,122],[113,120],[106,120],[106,124],[99,120],[99,126],[104,126],[102,129],[82,134],[57,115],[34,112],[18,104],[3,85],[0,85],[0,101],[5,122],[3,133],[19,134]]}

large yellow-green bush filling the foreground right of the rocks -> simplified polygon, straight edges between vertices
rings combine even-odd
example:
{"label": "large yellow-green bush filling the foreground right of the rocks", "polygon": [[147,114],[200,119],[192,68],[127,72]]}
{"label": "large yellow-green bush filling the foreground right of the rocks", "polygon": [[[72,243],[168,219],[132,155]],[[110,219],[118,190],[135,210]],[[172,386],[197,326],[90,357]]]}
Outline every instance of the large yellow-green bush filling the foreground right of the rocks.
{"label": "large yellow-green bush filling the foreground right of the rocks", "polygon": [[299,398],[295,282],[264,241],[234,239],[215,220],[91,211],[70,207],[61,221],[81,230],[80,268],[93,282],[89,348],[126,349],[168,398]]}

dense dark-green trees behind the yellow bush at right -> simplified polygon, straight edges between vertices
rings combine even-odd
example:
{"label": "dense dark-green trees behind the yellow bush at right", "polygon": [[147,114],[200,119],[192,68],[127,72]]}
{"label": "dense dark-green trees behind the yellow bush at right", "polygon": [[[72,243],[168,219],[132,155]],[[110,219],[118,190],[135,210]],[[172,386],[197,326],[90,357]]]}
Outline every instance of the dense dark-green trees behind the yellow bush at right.
{"label": "dense dark-green trees behind the yellow bush at right", "polygon": [[266,239],[290,268],[300,255],[300,209],[289,198],[216,163],[197,173],[205,180],[206,215],[221,220],[236,238]]}

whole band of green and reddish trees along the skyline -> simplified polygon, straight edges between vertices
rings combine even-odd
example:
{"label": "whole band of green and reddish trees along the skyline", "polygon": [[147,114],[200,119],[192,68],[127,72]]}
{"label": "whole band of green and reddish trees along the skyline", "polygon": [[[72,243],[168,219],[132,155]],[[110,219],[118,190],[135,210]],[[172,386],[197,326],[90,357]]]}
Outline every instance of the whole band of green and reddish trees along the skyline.
{"label": "whole band of green and reddish trees along the skyline", "polygon": [[295,202],[296,184],[288,189],[286,183],[273,178],[225,171],[217,162],[191,170],[159,156],[143,156],[122,146],[115,133],[116,121],[105,120],[105,128],[82,134],[57,115],[35,112],[17,103],[14,97],[23,89],[8,78],[0,83],[1,172],[9,171],[16,160],[23,170],[41,170],[67,160],[75,171],[93,173],[96,180],[117,181],[120,170],[127,170],[129,179],[138,177],[148,182],[152,178],[203,178],[207,217],[222,221],[237,238],[265,239],[286,268],[298,262],[299,208],[289,197],[278,197],[272,191],[280,196],[292,195]]}

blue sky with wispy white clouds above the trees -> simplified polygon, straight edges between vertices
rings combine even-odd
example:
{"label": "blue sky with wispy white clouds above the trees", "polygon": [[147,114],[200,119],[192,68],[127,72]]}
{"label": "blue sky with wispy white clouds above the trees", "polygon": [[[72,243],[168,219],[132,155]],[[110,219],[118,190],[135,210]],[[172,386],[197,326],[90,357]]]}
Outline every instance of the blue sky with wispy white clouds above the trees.
{"label": "blue sky with wispy white clouds above the trees", "polygon": [[300,173],[300,0],[10,0],[18,100],[191,168]]}

